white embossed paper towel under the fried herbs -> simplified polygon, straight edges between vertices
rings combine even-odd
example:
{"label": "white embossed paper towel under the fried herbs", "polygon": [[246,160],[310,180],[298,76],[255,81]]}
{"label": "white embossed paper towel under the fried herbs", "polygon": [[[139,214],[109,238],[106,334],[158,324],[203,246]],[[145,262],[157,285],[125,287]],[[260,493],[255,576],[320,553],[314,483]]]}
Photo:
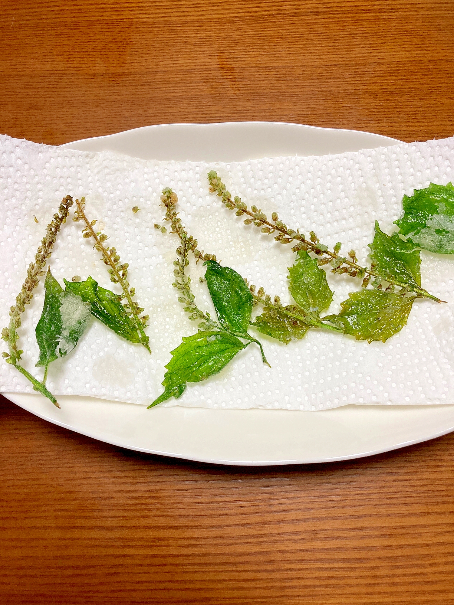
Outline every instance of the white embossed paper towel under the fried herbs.
{"label": "white embossed paper towel under the fried herbs", "polygon": [[[277,211],[303,233],[313,229],[328,246],[342,241],[346,249],[354,248],[361,264],[366,262],[376,219],[384,231],[394,231],[392,222],[401,215],[404,194],[411,195],[413,188],[426,187],[430,181],[446,184],[454,177],[454,139],[218,165],[145,162],[2,136],[0,155],[1,324],[8,324],[8,310],[62,197],[85,195],[88,216],[99,220],[97,226],[110,236],[110,245],[130,265],[131,286],[150,315],[147,332],[153,354],[93,319],[76,349],[50,365],[48,387],[57,396],[91,395],[139,404],[162,392],[169,352],[182,335],[197,330],[172,287],[176,236],[153,226],[162,223],[163,187],[173,188],[179,196],[181,218],[199,240],[200,249],[215,253],[223,264],[287,303],[286,267],[294,258],[290,247],[243,225],[209,194],[209,169],[219,171],[232,194],[265,214]],[[139,206],[137,214],[133,206]],[[81,237],[81,228],[72,221],[64,225],[50,261],[53,275],[61,284],[63,278],[91,275],[100,286],[120,292],[91,241]],[[188,385],[178,401],[171,399],[164,405],[320,410],[346,404],[452,404],[454,257],[424,251],[421,257],[423,286],[449,302],[440,305],[419,299],[406,327],[385,344],[367,344],[322,330],[309,330],[304,339],[289,345],[260,335],[271,368],[263,365],[258,348],[251,345],[220,374]],[[214,314],[206,284],[197,280],[203,272],[201,263],[195,266],[191,261],[197,302]],[[335,292],[329,313],[335,313],[359,283],[331,273],[328,281]],[[20,331],[24,365],[36,376],[42,372],[34,366],[35,326],[43,299],[41,283]],[[33,392],[4,361],[0,372],[2,391]]]}

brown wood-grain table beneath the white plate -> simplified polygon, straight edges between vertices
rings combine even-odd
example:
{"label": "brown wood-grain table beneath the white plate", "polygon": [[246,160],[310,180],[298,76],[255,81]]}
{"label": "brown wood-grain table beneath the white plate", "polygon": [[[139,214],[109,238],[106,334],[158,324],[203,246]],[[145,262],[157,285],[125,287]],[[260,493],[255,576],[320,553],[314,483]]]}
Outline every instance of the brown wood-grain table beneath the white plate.
{"label": "brown wood-grain table beneath the white plate", "polygon": [[[4,0],[0,132],[64,143],[276,120],[454,133],[449,0]],[[2,604],[450,604],[454,434],[370,459],[222,468],[5,399]]]}

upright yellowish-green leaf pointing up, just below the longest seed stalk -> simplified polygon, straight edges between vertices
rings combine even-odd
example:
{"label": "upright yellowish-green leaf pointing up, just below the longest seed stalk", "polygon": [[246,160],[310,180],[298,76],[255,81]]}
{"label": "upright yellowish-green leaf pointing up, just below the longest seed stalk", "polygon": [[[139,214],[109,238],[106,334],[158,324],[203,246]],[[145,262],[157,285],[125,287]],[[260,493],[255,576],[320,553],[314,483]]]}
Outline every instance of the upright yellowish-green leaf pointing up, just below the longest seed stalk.
{"label": "upright yellowish-green leaf pointing up, just below the longest seed stalk", "polygon": [[288,270],[291,295],[308,315],[308,321],[310,318],[315,325],[320,324],[320,313],[329,307],[333,296],[326,273],[305,250],[298,250],[293,267]]}

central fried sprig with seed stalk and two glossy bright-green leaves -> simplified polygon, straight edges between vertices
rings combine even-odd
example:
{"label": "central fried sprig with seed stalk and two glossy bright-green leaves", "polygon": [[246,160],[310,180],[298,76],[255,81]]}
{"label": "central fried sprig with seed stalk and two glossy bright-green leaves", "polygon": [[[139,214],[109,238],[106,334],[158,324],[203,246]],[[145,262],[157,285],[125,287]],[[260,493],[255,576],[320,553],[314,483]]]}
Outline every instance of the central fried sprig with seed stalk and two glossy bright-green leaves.
{"label": "central fried sprig with seed stalk and two glossy bright-green leaves", "polygon": [[[180,293],[179,301],[190,314],[189,319],[202,319],[202,322],[196,334],[183,336],[181,344],[170,352],[172,357],[165,365],[167,371],[162,381],[164,391],[148,408],[153,408],[170,397],[179,399],[189,383],[202,382],[218,374],[251,342],[258,344],[263,362],[269,365],[262,344],[248,333],[253,300],[242,276],[234,269],[221,266],[214,255],[197,249],[197,241],[188,235],[178,216],[178,198],[171,189],[163,190],[161,201],[166,208],[165,220],[171,223],[171,233],[178,235],[180,240],[177,260],[174,261],[176,269],[173,286]],[[166,231],[165,227],[158,224],[155,227],[162,232]],[[219,323],[196,305],[191,292],[191,279],[185,272],[189,264],[189,251],[194,253],[197,260],[203,260],[206,266],[205,280]],[[245,344],[243,340],[248,342]]]}

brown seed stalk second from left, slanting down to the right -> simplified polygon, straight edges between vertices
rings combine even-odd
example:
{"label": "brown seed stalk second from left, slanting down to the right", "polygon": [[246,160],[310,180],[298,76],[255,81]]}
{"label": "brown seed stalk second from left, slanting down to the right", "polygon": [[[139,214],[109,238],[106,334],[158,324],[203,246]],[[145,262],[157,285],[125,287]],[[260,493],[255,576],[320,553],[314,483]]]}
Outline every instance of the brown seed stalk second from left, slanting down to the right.
{"label": "brown seed stalk second from left, slanting down to the right", "polygon": [[76,200],[76,212],[74,213],[73,221],[83,221],[85,227],[82,230],[84,238],[92,237],[94,239],[94,248],[102,254],[102,261],[106,264],[109,269],[110,281],[114,284],[120,284],[123,290],[122,299],[126,299],[126,303],[123,304],[125,312],[131,317],[134,324],[136,325],[137,332],[140,334],[140,342],[151,353],[150,345],[148,344],[150,338],[145,334],[146,322],[150,319],[150,316],[143,315],[139,317],[140,313],[143,312],[143,308],[139,307],[136,301],[133,301],[133,296],[136,294],[136,289],[130,287],[128,281],[128,263],[121,263],[120,255],[117,250],[111,246],[107,247],[104,242],[108,239],[108,236],[100,231],[93,229],[97,220],[94,219],[89,221],[85,214],[85,198]]}

